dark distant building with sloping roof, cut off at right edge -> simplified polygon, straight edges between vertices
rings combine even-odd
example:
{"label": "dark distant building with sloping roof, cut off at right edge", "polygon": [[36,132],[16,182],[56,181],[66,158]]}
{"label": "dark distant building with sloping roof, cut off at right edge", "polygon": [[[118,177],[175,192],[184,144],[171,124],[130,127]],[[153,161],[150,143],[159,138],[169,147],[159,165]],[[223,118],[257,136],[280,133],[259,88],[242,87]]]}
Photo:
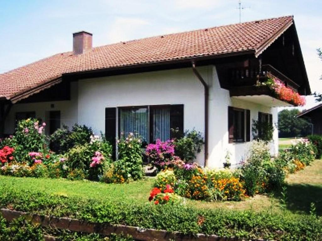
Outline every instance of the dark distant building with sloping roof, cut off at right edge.
{"label": "dark distant building with sloping roof, cut off at right edge", "polygon": [[308,117],[312,121],[312,134],[322,135],[322,104],[312,107],[302,113],[299,113],[297,117]]}

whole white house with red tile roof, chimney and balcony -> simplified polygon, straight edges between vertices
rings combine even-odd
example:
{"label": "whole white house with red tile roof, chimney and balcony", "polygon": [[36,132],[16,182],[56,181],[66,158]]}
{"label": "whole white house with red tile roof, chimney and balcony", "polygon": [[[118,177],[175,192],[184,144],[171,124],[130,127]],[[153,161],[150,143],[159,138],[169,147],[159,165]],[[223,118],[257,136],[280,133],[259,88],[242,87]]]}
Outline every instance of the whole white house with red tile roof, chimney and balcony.
{"label": "whole white house with red tile roof, chimney and balcony", "polygon": [[[198,130],[197,162],[232,166],[248,155],[252,121],[277,123],[291,106],[265,85],[278,77],[310,94],[293,16],[92,47],[92,34],[73,34],[73,49],[0,75],[1,133],[36,117],[51,134],[74,123],[115,140],[138,132],[146,142]],[[271,154],[278,153],[275,127]]]}

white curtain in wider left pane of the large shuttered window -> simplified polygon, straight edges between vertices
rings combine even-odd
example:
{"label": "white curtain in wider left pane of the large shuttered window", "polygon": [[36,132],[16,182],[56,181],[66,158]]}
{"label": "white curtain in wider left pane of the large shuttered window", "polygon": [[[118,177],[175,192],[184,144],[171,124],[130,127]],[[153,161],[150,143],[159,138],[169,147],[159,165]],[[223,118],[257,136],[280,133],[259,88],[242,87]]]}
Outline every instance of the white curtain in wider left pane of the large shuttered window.
{"label": "white curtain in wider left pane of the large shuttered window", "polygon": [[148,141],[148,110],[147,108],[119,109],[120,131],[125,136],[133,132]]}

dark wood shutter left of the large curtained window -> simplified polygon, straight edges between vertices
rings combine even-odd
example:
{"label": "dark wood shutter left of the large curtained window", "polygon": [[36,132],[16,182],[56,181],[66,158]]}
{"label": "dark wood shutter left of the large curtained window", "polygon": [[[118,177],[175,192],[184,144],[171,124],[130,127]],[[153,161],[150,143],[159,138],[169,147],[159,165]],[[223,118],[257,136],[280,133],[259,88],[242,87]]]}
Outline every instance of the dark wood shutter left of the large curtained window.
{"label": "dark wood shutter left of the large curtained window", "polygon": [[112,144],[112,158],[115,160],[116,147],[116,108],[105,108],[105,137]]}

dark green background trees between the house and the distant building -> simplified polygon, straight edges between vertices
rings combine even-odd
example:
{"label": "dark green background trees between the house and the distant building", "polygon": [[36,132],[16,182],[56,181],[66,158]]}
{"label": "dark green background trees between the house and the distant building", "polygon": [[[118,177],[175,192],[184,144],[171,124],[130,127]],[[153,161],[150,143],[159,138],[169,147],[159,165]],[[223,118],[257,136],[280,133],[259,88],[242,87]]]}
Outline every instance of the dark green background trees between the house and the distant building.
{"label": "dark green background trees between the house and the distant building", "polygon": [[296,118],[298,109],[279,112],[279,137],[305,137],[311,134],[311,121],[307,118]]}

